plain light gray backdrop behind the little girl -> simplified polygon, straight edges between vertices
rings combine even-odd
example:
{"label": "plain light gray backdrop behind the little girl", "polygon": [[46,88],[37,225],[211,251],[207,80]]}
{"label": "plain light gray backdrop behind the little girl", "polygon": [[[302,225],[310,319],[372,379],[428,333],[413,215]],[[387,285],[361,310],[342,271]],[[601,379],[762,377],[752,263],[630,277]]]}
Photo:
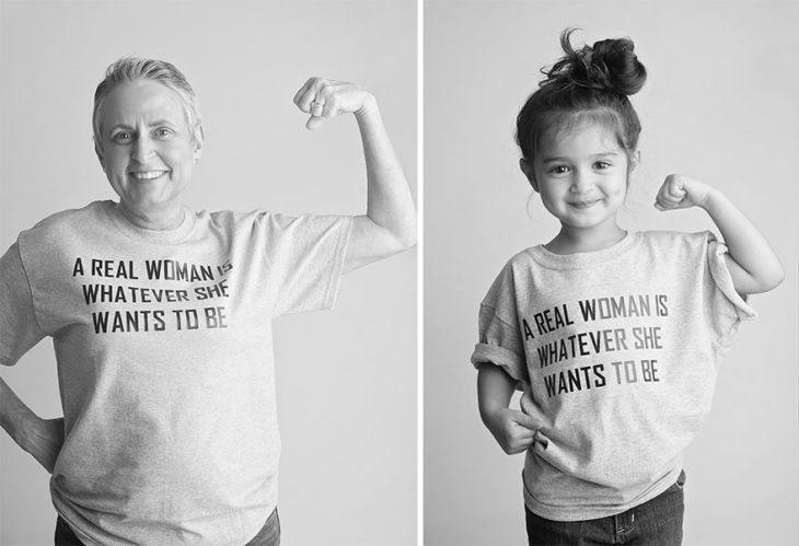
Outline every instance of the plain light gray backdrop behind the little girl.
{"label": "plain light gray backdrop behind the little girl", "polygon": [[521,468],[477,415],[479,301],[556,220],[518,170],[516,115],[578,42],[628,35],[649,69],[633,97],[642,164],[623,225],[698,231],[699,210],[651,204],[668,173],[716,185],[761,228],[787,277],[752,297],[686,461],[686,546],[797,544],[796,2],[451,2],[425,9],[425,534],[429,545],[525,544]]}

